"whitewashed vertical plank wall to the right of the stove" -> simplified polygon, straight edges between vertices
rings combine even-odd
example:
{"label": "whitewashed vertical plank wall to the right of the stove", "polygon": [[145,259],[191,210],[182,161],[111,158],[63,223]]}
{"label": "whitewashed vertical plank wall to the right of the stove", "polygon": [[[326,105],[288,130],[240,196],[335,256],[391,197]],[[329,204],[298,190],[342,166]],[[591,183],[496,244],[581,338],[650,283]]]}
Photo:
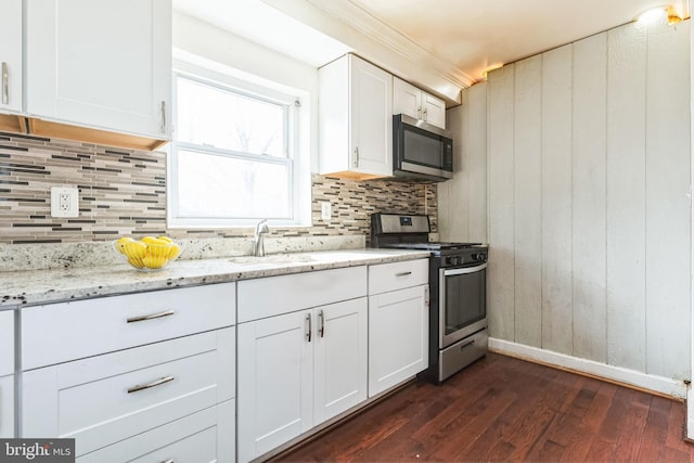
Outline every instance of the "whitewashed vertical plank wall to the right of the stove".
{"label": "whitewashed vertical plank wall to the right of the stove", "polygon": [[[689,23],[627,24],[490,73],[491,336],[690,378]],[[451,230],[480,220],[470,191],[439,194],[441,237],[473,237]]]}

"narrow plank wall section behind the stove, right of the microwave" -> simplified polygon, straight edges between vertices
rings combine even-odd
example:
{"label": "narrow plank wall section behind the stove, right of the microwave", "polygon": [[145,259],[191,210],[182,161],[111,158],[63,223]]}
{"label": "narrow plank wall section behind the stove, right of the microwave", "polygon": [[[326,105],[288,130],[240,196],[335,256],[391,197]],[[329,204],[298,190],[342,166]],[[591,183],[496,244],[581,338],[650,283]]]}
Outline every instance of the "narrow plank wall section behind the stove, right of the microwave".
{"label": "narrow plank wall section behind the stove, right of the microwave", "polygon": [[453,138],[453,178],[438,183],[442,241],[487,243],[487,83],[464,89],[446,112]]}

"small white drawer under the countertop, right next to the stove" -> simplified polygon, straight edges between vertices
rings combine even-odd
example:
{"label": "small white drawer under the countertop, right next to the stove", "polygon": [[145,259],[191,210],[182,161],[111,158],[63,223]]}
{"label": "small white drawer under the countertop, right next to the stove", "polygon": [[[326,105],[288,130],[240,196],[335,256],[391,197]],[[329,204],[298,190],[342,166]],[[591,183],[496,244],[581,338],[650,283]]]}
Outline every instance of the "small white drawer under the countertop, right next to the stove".
{"label": "small white drawer under the countertop, right next to the stove", "polygon": [[429,282],[429,260],[380,263],[369,267],[369,294],[419,286]]}

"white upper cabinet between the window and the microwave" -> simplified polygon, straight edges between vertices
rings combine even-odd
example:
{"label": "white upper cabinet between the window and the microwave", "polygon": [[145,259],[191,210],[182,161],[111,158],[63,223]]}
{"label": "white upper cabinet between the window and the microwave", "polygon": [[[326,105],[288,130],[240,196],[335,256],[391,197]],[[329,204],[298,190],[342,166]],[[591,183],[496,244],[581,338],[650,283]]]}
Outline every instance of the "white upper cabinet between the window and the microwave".
{"label": "white upper cabinet between the window and the microwave", "polygon": [[393,76],[352,54],[319,69],[320,173],[393,176]]}

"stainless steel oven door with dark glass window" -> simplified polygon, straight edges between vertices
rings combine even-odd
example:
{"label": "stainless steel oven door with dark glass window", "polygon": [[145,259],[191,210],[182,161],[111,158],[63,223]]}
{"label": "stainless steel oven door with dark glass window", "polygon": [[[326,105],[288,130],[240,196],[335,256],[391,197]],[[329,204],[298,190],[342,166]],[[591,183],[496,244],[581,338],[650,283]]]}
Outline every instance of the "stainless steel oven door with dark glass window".
{"label": "stainless steel oven door with dark glass window", "polygon": [[445,335],[452,335],[487,317],[487,266],[447,269],[445,278]]}

